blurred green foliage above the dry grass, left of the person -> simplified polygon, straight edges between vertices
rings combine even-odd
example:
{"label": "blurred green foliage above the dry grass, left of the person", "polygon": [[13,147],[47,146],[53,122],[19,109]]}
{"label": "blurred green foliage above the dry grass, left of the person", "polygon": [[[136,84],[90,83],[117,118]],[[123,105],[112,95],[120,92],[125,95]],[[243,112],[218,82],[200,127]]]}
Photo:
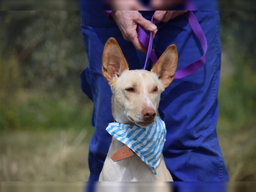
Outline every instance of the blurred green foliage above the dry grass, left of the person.
{"label": "blurred green foliage above the dry grass, left of the person", "polygon": [[0,128],[90,126],[80,12],[1,12]]}

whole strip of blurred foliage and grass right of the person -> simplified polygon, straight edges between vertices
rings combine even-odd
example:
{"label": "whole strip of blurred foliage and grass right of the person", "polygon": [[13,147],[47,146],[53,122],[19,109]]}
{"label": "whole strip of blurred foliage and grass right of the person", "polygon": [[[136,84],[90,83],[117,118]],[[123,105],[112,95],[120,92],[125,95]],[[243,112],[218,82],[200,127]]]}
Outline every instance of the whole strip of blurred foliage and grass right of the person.
{"label": "whole strip of blurred foliage and grass right of the person", "polygon": [[256,180],[256,12],[220,12],[217,132],[231,181]]}

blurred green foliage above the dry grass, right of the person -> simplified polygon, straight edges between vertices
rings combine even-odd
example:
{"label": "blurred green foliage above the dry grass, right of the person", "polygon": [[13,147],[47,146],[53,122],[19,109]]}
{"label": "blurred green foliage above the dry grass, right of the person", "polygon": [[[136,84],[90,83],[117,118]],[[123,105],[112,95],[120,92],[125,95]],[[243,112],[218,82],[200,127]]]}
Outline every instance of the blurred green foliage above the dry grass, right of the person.
{"label": "blurred green foliage above the dry grass, right of the person", "polygon": [[220,18],[224,58],[218,95],[219,120],[228,122],[228,131],[251,129],[256,117],[256,13],[221,12]]}

